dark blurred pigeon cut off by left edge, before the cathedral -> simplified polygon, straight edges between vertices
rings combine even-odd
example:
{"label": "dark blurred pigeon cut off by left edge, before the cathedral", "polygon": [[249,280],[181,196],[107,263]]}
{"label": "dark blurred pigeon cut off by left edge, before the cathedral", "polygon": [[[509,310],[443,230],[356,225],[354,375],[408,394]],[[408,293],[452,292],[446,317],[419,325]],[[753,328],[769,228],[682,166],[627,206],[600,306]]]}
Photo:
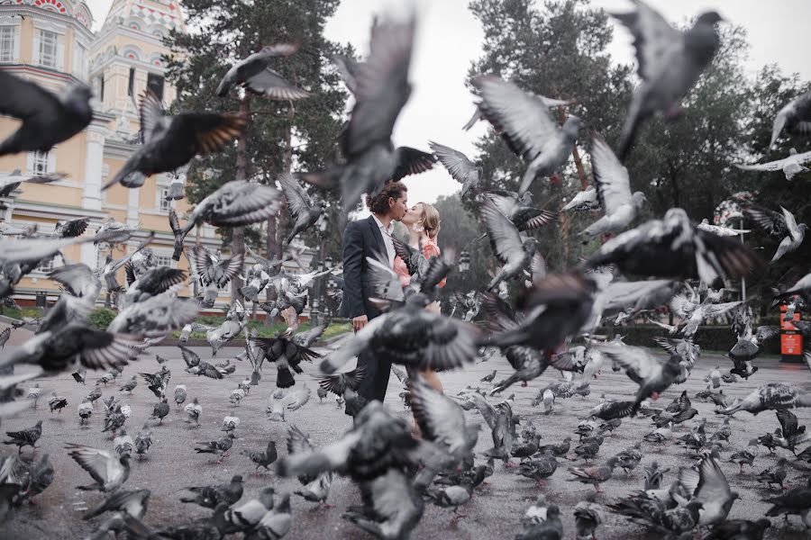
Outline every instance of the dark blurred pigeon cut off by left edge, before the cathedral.
{"label": "dark blurred pigeon cut off by left edge, before the cathedral", "polygon": [[0,156],[19,152],[49,152],[87,128],[93,118],[87,85],[74,85],[61,95],[14,76],[0,72],[0,114],[23,121],[17,130],[0,142]]}

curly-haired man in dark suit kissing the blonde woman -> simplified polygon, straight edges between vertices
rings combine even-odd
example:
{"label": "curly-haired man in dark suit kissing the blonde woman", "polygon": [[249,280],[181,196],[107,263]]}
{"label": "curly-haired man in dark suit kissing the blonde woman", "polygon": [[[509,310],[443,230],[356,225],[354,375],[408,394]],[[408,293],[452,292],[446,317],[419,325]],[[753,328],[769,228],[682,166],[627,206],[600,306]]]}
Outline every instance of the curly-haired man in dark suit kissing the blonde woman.
{"label": "curly-haired man in dark suit kissing the blonde woman", "polygon": [[[369,320],[380,315],[369,302],[371,290],[369,264],[366,257],[388,261],[394,266],[395,250],[391,241],[394,221],[407,210],[408,190],[405,184],[390,182],[375,197],[367,200],[372,214],[365,220],[351,221],[343,231],[343,303],[341,316],[352,320],[358,332]],[[369,352],[358,356],[358,365],[366,365],[366,375],[358,393],[367,401],[386,398],[391,362]]]}

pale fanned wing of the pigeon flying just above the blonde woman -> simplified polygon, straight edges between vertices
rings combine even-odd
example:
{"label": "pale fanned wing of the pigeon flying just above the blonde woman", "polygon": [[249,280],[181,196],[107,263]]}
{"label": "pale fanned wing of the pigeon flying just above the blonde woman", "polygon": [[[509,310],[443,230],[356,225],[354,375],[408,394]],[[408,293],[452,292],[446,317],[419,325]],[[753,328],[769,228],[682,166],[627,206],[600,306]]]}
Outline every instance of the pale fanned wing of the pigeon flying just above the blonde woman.
{"label": "pale fanned wing of the pigeon flying just above the blonde woman", "polygon": [[472,81],[481,96],[478,110],[504,137],[515,154],[532,160],[560,129],[541,97],[497,76]]}

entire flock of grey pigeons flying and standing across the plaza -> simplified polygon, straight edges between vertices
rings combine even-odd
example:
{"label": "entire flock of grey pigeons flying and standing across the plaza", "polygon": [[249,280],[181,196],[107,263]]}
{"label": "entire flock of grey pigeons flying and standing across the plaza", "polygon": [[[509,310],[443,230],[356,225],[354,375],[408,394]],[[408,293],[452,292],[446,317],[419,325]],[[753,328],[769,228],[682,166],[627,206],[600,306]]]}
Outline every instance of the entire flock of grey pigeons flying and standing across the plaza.
{"label": "entire flock of grey pigeons flying and standing across the plaza", "polygon": [[[23,390],[22,384],[42,375],[73,371],[77,383],[86,382],[87,369],[105,370],[96,388],[78,405],[80,423],[95,414],[94,402],[103,395],[100,384],[113,383],[125,367],[145,349],[181,330],[181,340],[193,331],[205,331],[212,347],[212,359],[204,360],[191,349],[181,346],[186,371],[221,380],[236,370],[230,360],[214,364],[214,356],[225,343],[244,335],[245,350],[237,357],[247,359],[251,374],[238,383],[230,394],[234,406],[245,399],[251,387],[260,383],[262,365],[269,360],[276,365],[278,389],[271,396],[269,419],[284,421],[286,412],[298,410],[310,399],[310,390],[301,385],[297,391],[296,374],[303,374],[301,364],[320,359],[321,374],[317,396],[327,392],[337,396],[339,404],[353,417],[353,425],[342,437],[325,446],[315,447],[308,435],[295,426],[287,430],[287,455],[278,456],[276,443],[270,441],[260,450],[243,450],[257,469],[276,464],[281,476],[296,476],[302,488],[297,495],[323,504],[328,500],[333,476],[339,474],[358,485],[362,503],[346,509],[343,517],[379,538],[407,538],[420,522],[426,503],[454,509],[473,497],[480,484],[494,472],[496,460],[515,473],[542,484],[556,473],[558,459],[572,453],[583,464],[569,468],[570,480],[594,485],[595,492],[574,508],[578,538],[594,538],[606,509],[631,519],[661,537],[689,537],[696,531],[704,538],[757,539],[773,524],[768,519],[727,520],[738,494],[719,467],[722,453],[732,435],[726,419],[715,433],[706,433],[706,422],[700,421],[677,440],[695,451],[697,464],[679,469],[670,486],[662,488],[661,470],[653,462],[646,468],[644,489],[621,500],[603,505],[597,503],[599,487],[609,481],[615,469],[631,473],[642,460],[642,442],[667,445],[675,426],[688,426],[697,416],[687,392],[666,408],[653,407],[652,401],[673,385],[685,383],[691,376],[701,351],[695,336],[708,319],[732,315],[737,343],[729,351],[734,367],[723,373],[715,367],[706,377],[706,391],[697,399],[712,401],[717,412],[732,416],[738,412],[758,414],[776,410],[780,427],[772,434],[753,439],[749,446],[734,451],[728,461],[752,466],[758,446],[770,451],[787,449],[797,455],[798,446],[811,440],[805,426],[799,426],[790,411],[811,406],[811,393],[784,383],[762,385],[743,398],[728,402],[722,383],[748,380],[758,371],[755,360],[763,341],[775,336],[778,329],[753,328],[752,314],[745,302],[721,302],[724,290],[718,284],[762,272],[765,265],[751,249],[733,238],[741,231],[708,223],[695,224],[685,211],[673,208],[661,219],[649,220],[632,228],[644,204],[642,193],[631,193],[628,172],[622,164],[633,149],[633,139],[645,119],[656,112],[672,116],[678,113],[681,97],[688,93],[711,62],[719,46],[715,23],[721,18],[715,12],[699,15],[687,31],[678,31],[666,23],[641,0],[636,9],[616,14],[634,38],[639,75],[642,84],[633,94],[627,121],[619,143],[618,157],[599,135],[591,138],[591,162],[595,186],[578,193],[562,211],[597,211],[602,217],[580,233],[584,241],[615,235],[581,266],[563,274],[550,274],[532,231],[556,219],[557,212],[535,208],[528,191],[533,182],[555,174],[569,159],[579,130],[579,119],[568,115],[560,126],[553,120],[550,108],[565,107],[569,101],[551,100],[531,94],[497,76],[478,76],[472,82],[478,95],[477,112],[471,122],[490,122],[509,148],[526,162],[517,193],[484,191],[478,185],[481,171],[460,152],[431,143],[433,153],[409,147],[395,148],[392,128],[408,100],[411,85],[408,68],[415,38],[415,17],[405,20],[380,18],[371,29],[369,58],[356,62],[336,58],[336,64],[347,87],[355,96],[351,119],[342,132],[342,162],[320,172],[282,175],[278,184],[232,181],[196,205],[181,225],[177,214],[170,212],[169,223],[175,235],[174,258],[186,255],[193,269],[193,279],[200,285],[195,300],[179,298],[178,289],[186,281],[185,272],[169,266],[158,266],[147,247],[151,237],[141,242],[134,253],[121,260],[108,257],[105,266],[91,269],[72,263],[61,255],[70,245],[93,241],[96,244],[123,243],[135,230],[110,220],[96,235],[83,236],[88,220],[59,223],[52,234],[32,229],[12,229],[0,238],[0,297],[13,304],[11,295],[21,277],[41,266],[43,261],[61,257],[63,266],[50,273],[50,278],[63,287],[57,302],[41,320],[23,320],[35,328],[32,338],[21,347],[10,348],[0,355],[0,418],[16,416],[36,403],[39,383]],[[245,58],[224,76],[216,94],[227,95],[233,87],[265,95],[271,99],[306,98],[305,90],[289,84],[269,66],[273,58],[295,53],[287,44],[266,47]],[[0,112],[19,118],[19,129],[0,143],[0,155],[14,152],[48,151],[55,144],[83,130],[90,121],[90,92],[78,85],[61,96],[0,71]],[[789,103],[775,120],[774,139],[784,130],[807,134],[811,125],[811,96]],[[168,116],[154,94],[147,91],[141,99],[142,145],[123,169],[105,187],[121,183],[137,189],[148,175],[170,172],[184,166],[191,158],[222,149],[238,137],[247,120],[231,114],[181,112]],[[783,165],[768,164],[767,170],[782,168],[788,177],[796,175],[805,155],[792,153]],[[214,304],[217,291],[243,271],[241,254],[221,257],[203,247],[186,249],[184,239],[197,223],[205,221],[217,227],[235,227],[267,220],[281,210],[283,202],[290,211],[295,227],[287,242],[321,219],[325,205],[314,202],[299,180],[326,189],[340,188],[344,210],[354,208],[363,193],[374,194],[390,180],[423,172],[437,161],[460,181],[463,193],[481,202],[481,216],[493,254],[501,264],[488,284],[487,291],[474,291],[457,300],[462,318],[452,318],[424,308],[439,298],[439,284],[455,266],[454,250],[446,249],[442,257],[426,260],[412,247],[395,240],[398,255],[412,274],[407,287],[385,263],[369,260],[370,277],[377,302],[384,313],[353,336],[341,347],[321,355],[313,344],[323,326],[296,333],[296,323],[275,338],[258,338],[248,327],[248,314],[242,302],[236,301],[219,328],[207,328],[195,322],[201,306]],[[779,162],[778,162],[779,163]],[[23,177],[15,175],[2,189],[17,182],[50,182],[59,176]],[[12,190],[14,187],[11,188]],[[802,243],[805,224],[797,224],[785,208],[779,211],[748,205],[744,212],[755,223],[779,240],[772,260],[784,257]],[[346,215],[344,213],[344,215]],[[260,302],[260,294],[270,287],[277,300],[260,303],[270,316],[290,315],[291,321],[305,308],[308,284],[318,275],[287,275],[280,269],[282,261],[269,261],[253,255],[256,261],[245,272],[241,288],[244,301]],[[117,283],[118,269],[126,269],[127,286]],[[632,281],[636,276],[639,281]],[[94,329],[89,312],[102,291],[114,295],[118,310],[105,330]],[[697,290],[691,285],[698,283]],[[510,284],[518,288],[517,301],[511,303]],[[796,284],[775,290],[775,305],[788,305],[788,312],[811,302],[811,275]],[[657,338],[664,359],[646,348],[630,347],[621,338],[601,340],[594,335],[602,320],[616,317],[618,324],[633,320],[663,304],[679,315],[678,325],[666,327],[667,337]],[[483,325],[471,320],[483,310]],[[661,324],[661,323],[660,323]],[[482,329],[482,326],[484,329]],[[796,328],[811,337],[811,325],[797,322]],[[2,339],[8,339],[7,329]],[[581,345],[572,345],[580,343]],[[561,347],[561,344],[569,346]],[[494,350],[506,357],[514,368],[503,381],[495,381],[496,372],[485,378],[492,383],[490,392],[471,389],[458,396],[437,392],[418,374],[420,370],[450,370],[469,365]],[[401,394],[414,413],[420,437],[415,437],[409,422],[378,401],[366,402],[358,394],[365,366],[346,371],[361,351],[386,356],[395,365],[393,371],[404,384]],[[811,365],[811,352],[806,352]],[[292,527],[289,493],[277,493],[266,487],[256,499],[242,501],[242,477],[216,486],[187,489],[181,499],[212,509],[210,517],[187,526],[155,529],[147,525],[145,514],[149,490],[127,490],[132,455],[142,458],[150,452],[152,429],[169,415],[169,399],[184,407],[187,422],[199,424],[203,414],[197,399],[187,402],[186,385],[180,384],[169,394],[170,371],[166,359],[157,356],[159,370],[141,373],[157,402],[152,415],[132,438],[124,428],[131,416],[129,406],[111,396],[104,401],[104,431],[113,437],[113,448],[68,445],[68,454],[87,471],[93,483],[81,490],[102,491],[105,500],[91,509],[85,518],[106,514],[94,534],[95,538],[125,535],[128,538],[222,538],[241,533],[246,538],[280,538]],[[538,393],[535,404],[551,414],[556,401],[574,395],[587,396],[589,385],[609,360],[615,371],[623,371],[638,385],[633,399],[601,401],[577,428],[579,444],[572,448],[567,437],[560,444],[541,446],[541,433],[532,422],[524,422],[519,434],[518,415],[513,413],[511,398],[493,400],[512,384],[526,385],[540,377],[551,366],[560,370],[563,379],[550,383]],[[14,365],[26,364],[23,374],[14,374]],[[399,367],[405,367],[405,372]],[[725,371],[725,370],[724,370]],[[132,392],[138,377],[132,374],[120,387]],[[489,399],[488,399],[489,398]],[[53,393],[48,401],[51,412],[68,405],[64,397]],[[493,447],[477,462],[473,452],[480,426],[466,415],[477,410],[492,436]],[[636,446],[596,464],[595,460],[606,435],[612,433],[626,417],[649,417],[655,429]],[[232,449],[234,432],[240,425],[237,416],[223,419],[223,437],[200,442],[196,452],[217,455],[222,461]],[[7,444],[35,446],[43,435],[42,422],[34,427],[8,432]],[[513,460],[518,460],[518,465]],[[797,459],[811,463],[811,446],[800,451]],[[763,471],[758,480],[767,485],[786,487],[787,460]],[[0,466],[0,520],[14,517],[25,501],[46,490],[54,477],[49,456],[26,463],[18,455],[9,455]],[[805,527],[811,527],[811,477],[779,496],[768,500],[772,508],[767,516],[799,515]],[[457,516],[454,519],[458,518]],[[560,508],[547,503],[543,496],[526,511],[523,531],[516,538],[558,539],[563,537]]]}

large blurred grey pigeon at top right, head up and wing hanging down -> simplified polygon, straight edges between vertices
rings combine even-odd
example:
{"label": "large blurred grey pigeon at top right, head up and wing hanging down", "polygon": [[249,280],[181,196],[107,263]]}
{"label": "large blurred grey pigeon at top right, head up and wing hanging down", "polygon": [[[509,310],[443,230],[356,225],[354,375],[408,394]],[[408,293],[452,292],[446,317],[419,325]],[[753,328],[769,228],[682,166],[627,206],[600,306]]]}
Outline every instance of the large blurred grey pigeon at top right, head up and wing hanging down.
{"label": "large blurred grey pigeon at top right, head up and wing hanging down", "polygon": [[679,101],[709,66],[720,44],[715,24],[723,21],[714,11],[698,15],[687,31],[679,31],[642,0],[633,0],[636,11],[612,14],[633,35],[637,73],[642,84],[633,92],[619,144],[624,161],[633,147],[636,131],[648,117],[662,111],[679,114]]}

